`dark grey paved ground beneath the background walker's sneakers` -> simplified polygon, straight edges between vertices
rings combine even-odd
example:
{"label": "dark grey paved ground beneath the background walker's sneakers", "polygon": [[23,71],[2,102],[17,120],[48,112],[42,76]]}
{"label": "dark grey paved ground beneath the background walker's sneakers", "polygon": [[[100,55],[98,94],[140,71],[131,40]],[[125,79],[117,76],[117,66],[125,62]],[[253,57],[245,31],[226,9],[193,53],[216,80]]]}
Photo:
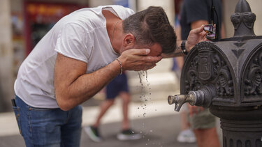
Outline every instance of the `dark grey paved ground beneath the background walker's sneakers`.
{"label": "dark grey paved ground beneath the background walker's sneakers", "polygon": [[[85,134],[85,131],[82,130],[81,147],[196,147],[196,144],[182,144],[176,141],[177,134],[180,131],[180,119],[177,114],[137,119],[133,120],[131,124],[136,131],[143,134],[143,139],[137,141],[118,141],[116,139],[116,134],[119,132],[120,123],[107,123],[101,126],[101,134],[104,139],[101,143],[94,143],[91,141],[89,137],[87,137],[87,134]],[[20,135],[0,137],[0,146],[24,147],[24,141]]]}

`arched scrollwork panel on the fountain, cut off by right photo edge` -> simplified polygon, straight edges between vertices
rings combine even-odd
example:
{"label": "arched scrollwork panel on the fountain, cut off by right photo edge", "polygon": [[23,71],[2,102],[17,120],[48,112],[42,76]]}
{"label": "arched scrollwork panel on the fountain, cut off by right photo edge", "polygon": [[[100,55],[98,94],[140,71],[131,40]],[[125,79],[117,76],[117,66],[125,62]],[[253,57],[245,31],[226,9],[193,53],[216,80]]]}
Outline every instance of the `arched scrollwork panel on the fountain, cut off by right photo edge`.
{"label": "arched scrollwork panel on the fountain, cut off by right photo edge", "polygon": [[247,67],[245,95],[262,95],[262,52],[256,54]]}

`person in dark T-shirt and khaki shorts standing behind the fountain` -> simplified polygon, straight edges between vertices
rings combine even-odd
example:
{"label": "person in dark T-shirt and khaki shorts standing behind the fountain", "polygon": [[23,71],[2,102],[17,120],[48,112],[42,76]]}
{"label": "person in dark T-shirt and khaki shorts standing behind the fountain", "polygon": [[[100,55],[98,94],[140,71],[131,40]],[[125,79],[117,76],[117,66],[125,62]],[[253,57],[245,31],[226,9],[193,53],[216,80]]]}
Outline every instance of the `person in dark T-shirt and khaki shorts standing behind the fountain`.
{"label": "person in dark T-shirt and khaki shorts standing behind the fountain", "polygon": [[[224,27],[221,25],[222,11],[221,1],[212,0],[217,10],[219,26],[221,27],[221,36],[224,37]],[[184,0],[181,11],[181,38],[187,39],[191,29],[196,29],[203,24],[209,24],[212,1],[210,0]],[[217,135],[215,117],[210,113],[209,109],[188,105],[189,107],[189,123],[196,135],[196,141],[199,147],[219,147],[219,139]]]}

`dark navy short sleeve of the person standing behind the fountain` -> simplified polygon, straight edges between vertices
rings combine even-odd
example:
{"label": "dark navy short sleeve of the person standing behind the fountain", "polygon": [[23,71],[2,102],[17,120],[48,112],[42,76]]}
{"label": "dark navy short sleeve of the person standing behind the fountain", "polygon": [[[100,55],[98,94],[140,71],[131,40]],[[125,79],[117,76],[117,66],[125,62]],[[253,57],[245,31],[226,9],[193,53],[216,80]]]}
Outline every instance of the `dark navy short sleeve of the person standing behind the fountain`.
{"label": "dark navy short sleeve of the person standing behind the fountain", "polygon": [[187,24],[197,20],[208,21],[208,5],[205,0],[187,0],[185,1],[185,10],[187,12]]}

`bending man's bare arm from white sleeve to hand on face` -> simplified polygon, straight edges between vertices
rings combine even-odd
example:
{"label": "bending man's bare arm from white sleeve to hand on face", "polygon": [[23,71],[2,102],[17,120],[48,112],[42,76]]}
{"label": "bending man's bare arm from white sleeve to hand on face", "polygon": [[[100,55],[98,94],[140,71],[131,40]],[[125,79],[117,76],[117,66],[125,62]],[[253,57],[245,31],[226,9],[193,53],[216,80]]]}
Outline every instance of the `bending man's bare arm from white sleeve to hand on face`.
{"label": "bending man's bare arm from white sleeve to hand on face", "polygon": [[88,64],[57,54],[54,65],[54,90],[57,104],[63,110],[71,109],[89,98],[92,98],[110,80],[124,70],[149,70],[161,56],[147,56],[150,49],[127,49],[119,56],[118,61],[86,74]]}

